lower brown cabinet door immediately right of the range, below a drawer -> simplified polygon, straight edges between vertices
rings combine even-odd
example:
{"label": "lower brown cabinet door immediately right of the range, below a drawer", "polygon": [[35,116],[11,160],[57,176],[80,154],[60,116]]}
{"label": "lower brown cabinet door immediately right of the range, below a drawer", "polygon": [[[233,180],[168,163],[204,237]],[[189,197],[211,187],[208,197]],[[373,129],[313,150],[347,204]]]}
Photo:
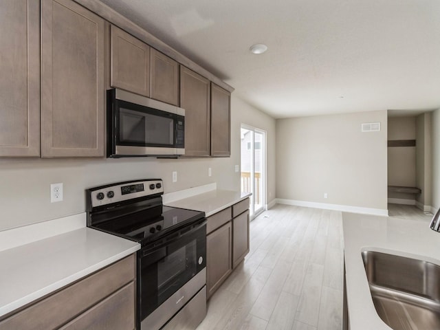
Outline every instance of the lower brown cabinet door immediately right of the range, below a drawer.
{"label": "lower brown cabinet door immediately right of the range, below a drawer", "polygon": [[208,298],[232,272],[232,224],[206,236],[206,287]]}

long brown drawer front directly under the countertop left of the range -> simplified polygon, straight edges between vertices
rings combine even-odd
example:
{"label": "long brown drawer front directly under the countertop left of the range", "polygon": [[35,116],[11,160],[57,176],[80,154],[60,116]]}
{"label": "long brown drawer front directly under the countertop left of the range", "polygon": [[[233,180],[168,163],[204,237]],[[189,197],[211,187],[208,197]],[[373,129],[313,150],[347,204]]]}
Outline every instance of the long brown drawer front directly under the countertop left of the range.
{"label": "long brown drawer front directly under the countertop left of the range", "polygon": [[0,322],[6,329],[54,329],[135,278],[135,257],[113,263]]}

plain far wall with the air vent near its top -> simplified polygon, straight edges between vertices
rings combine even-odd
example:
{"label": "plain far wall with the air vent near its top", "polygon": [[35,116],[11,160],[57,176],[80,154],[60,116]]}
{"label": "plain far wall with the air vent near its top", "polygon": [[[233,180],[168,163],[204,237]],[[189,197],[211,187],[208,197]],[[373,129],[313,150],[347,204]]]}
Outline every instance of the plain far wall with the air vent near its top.
{"label": "plain far wall with the air vent near its top", "polygon": [[386,111],[276,120],[277,199],[386,210],[386,123]]}

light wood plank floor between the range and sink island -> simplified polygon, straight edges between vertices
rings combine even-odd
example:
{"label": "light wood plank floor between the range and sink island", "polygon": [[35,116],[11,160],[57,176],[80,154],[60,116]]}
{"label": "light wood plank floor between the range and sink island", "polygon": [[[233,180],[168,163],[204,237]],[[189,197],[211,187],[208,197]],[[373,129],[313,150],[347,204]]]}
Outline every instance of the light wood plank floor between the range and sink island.
{"label": "light wood plank floor between the range and sink island", "polygon": [[342,329],[342,213],[277,204],[197,330]]}

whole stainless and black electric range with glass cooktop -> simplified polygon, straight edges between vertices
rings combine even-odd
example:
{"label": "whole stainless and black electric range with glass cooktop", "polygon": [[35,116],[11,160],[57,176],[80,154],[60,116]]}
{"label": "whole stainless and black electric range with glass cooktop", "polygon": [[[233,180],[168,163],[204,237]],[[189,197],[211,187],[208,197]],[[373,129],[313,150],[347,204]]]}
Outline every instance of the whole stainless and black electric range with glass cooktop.
{"label": "whole stainless and black electric range with glass cooktop", "polygon": [[88,189],[87,225],[141,244],[137,329],[195,329],[206,316],[206,219],[163,206],[161,179]]}

